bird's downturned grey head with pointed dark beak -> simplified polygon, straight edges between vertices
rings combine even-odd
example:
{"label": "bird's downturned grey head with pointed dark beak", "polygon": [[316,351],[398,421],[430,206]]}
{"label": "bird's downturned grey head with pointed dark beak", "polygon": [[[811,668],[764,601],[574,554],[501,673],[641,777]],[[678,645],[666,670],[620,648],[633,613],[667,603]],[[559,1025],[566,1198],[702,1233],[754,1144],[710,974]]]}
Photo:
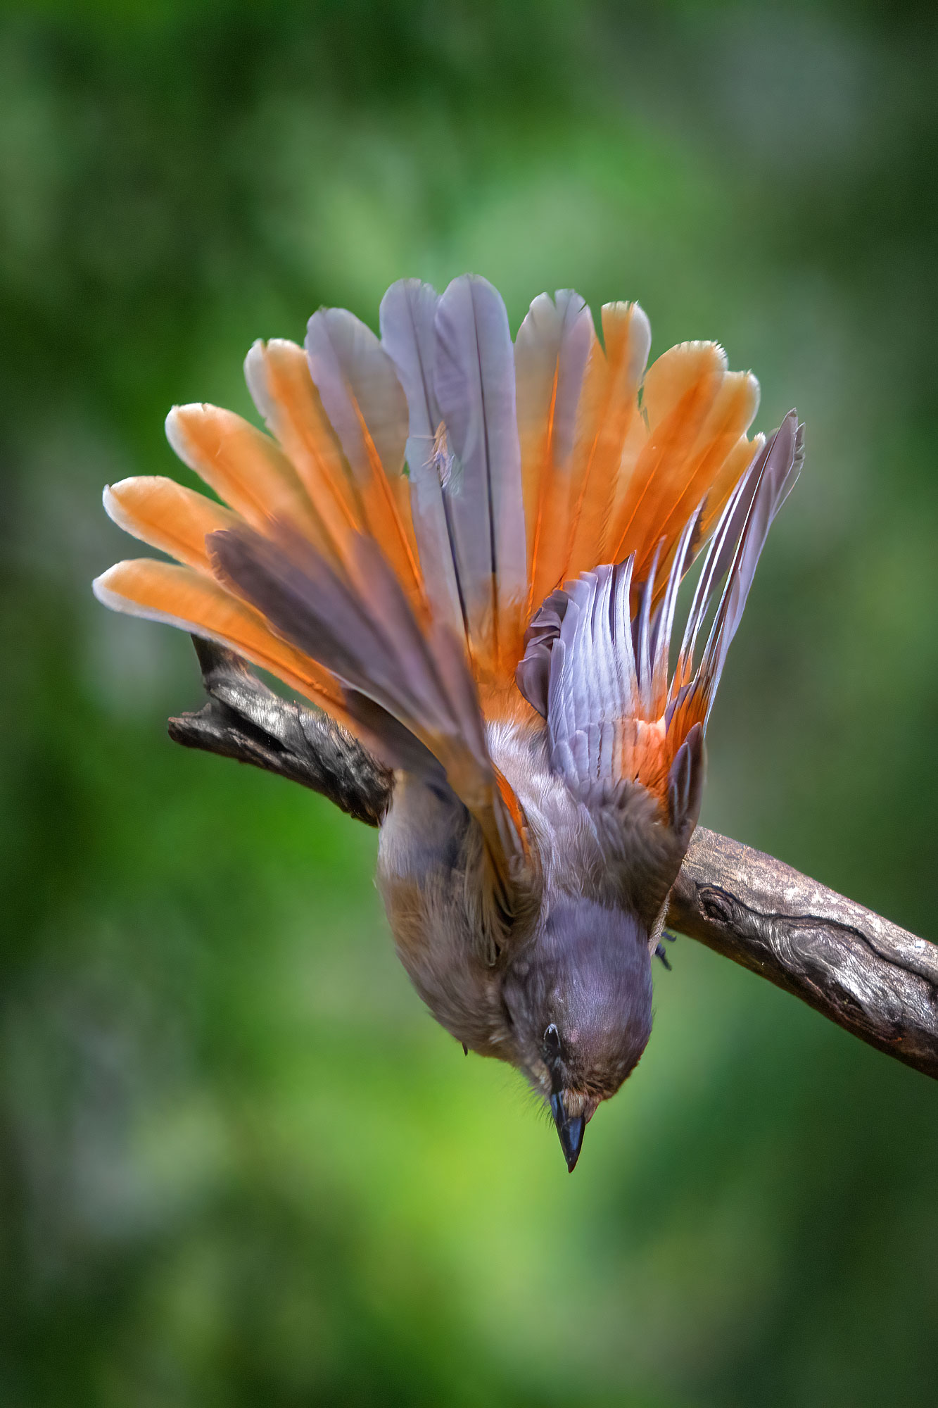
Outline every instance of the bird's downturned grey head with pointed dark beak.
{"label": "bird's downturned grey head with pointed dark beak", "polygon": [[572,1173],[587,1121],[651,1035],[648,929],[592,900],[554,895],[506,973],[503,998],[514,1063],[549,1104]]}

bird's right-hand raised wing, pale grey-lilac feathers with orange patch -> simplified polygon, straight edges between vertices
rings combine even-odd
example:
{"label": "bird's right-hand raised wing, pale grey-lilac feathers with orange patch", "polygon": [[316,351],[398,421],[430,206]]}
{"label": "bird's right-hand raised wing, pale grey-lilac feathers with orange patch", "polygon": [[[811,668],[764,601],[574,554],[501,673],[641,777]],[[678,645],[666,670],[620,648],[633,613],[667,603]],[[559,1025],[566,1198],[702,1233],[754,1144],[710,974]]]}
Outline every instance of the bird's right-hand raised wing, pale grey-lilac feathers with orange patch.
{"label": "bird's right-hand raised wing, pale grey-lilac feathers with orange patch", "polygon": [[[703,735],[720,673],[769,527],[801,459],[801,428],[790,413],[724,507],[673,676],[669,653],[677,589],[703,505],[686,520],[661,584],[655,558],[638,589],[634,556],[615,567],[597,567],[555,591],[527,634],[518,686],[546,718],[552,767],[606,822],[618,812],[623,826],[635,815],[634,804],[625,801],[641,788],[654,800],[649,815],[668,832],[669,846],[670,838],[677,843],[677,863],[697,821]],[[697,638],[724,576],[696,663]],[[634,849],[634,838],[630,845]],[[627,853],[630,846],[621,849]]]}

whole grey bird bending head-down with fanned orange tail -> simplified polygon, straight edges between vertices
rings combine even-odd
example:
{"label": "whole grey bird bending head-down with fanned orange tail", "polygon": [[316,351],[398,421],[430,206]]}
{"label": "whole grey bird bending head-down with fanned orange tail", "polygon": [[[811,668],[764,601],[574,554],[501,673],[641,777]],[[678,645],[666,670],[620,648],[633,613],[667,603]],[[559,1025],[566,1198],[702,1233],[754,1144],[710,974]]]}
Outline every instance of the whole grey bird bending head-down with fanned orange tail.
{"label": "whole grey bird bending head-down with fanned orange tail", "polygon": [[397,953],[456,1041],[549,1102],[570,1170],[651,1033],[707,719],[803,459],[793,411],[746,439],[759,386],[715,344],[645,370],[638,304],[606,304],[601,332],[565,290],[513,346],[470,276],[393,284],[380,339],[323,308],[306,352],[248,353],[273,438],[211,406],[169,414],[228,507],[169,479],[104,491],[180,565],[94,583],[270,670],[394,769],[377,881]]}

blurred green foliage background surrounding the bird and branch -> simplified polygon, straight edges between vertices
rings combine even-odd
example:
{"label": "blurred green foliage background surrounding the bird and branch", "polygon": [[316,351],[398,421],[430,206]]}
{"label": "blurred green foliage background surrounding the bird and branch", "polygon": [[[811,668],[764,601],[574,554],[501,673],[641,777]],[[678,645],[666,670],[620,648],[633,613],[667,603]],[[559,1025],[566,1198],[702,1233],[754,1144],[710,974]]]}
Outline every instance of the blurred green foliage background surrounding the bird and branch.
{"label": "blurred green foliage background surrounding the bird and branch", "polygon": [[935,938],[937,61],[931,6],[3,8],[4,1408],[937,1401],[923,1076],[683,939],[568,1177],[375,835],[173,748],[189,641],[89,587],[320,303],[639,298],[807,421],[704,821]]}

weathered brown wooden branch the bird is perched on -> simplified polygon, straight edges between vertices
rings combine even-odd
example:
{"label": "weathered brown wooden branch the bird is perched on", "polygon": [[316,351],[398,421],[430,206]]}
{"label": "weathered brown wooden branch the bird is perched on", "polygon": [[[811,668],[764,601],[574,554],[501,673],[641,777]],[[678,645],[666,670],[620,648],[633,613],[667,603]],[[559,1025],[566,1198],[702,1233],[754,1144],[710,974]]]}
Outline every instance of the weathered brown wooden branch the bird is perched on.
{"label": "weathered brown wooden branch the bird is perched on", "polygon": [[[193,641],[208,703],[169,719],[175,742],[277,773],[380,825],[393,779],[351,734],[273,694],[230,650]],[[668,924],[938,1077],[938,945],[704,826],[672,890]]]}

